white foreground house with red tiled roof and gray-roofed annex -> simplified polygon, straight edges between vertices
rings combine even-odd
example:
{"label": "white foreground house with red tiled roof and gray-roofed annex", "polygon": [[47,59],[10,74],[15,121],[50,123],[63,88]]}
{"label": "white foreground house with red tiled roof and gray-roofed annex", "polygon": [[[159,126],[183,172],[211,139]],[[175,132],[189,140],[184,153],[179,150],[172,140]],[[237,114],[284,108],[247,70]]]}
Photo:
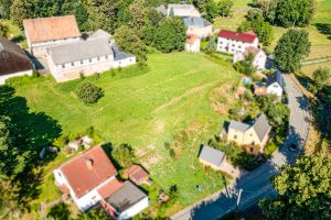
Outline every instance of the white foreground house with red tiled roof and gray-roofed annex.
{"label": "white foreground house with red tiled roof and gray-roofed annex", "polygon": [[149,206],[148,196],[130,182],[116,178],[117,170],[100,146],[53,170],[55,184],[71,195],[81,211],[100,204],[116,219],[129,219]]}

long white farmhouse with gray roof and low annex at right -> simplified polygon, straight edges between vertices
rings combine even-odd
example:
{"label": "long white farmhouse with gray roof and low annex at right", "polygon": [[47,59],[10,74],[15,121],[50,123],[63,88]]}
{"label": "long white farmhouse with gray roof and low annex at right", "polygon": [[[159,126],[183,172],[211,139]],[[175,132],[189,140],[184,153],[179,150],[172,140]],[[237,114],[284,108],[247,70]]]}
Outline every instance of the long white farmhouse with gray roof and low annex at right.
{"label": "long white farmhouse with gray roof and low annex at right", "polygon": [[58,82],[136,63],[134,55],[110,46],[106,37],[52,46],[47,48],[46,57],[51,74]]}

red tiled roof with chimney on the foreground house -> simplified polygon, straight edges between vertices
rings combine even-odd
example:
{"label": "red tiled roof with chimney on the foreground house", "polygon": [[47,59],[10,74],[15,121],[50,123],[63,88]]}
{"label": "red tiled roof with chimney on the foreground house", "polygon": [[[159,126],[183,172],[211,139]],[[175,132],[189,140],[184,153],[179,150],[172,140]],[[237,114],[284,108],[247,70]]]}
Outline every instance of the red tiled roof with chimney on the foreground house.
{"label": "red tiled roof with chimney on the foreground house", "polygon": [[116,168],[100,146],[95,146],[66,162],[58,169],[66,177],[77,198],[117,174]]}

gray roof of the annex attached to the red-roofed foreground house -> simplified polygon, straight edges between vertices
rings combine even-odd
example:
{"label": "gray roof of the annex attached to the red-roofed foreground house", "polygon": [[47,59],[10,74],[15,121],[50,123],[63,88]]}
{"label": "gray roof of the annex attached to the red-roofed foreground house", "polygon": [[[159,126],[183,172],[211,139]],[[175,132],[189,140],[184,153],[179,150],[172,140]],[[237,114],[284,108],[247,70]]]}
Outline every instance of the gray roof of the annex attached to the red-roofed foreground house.
{"label": "gray roof of the annex attached to the red-roofed foreground house", "polygon": [[131,182],[127,180],[124,186],[111,194],[106,201],[115,208],[116,211],[122,212],[146,197],[146,194],[137,188]]}

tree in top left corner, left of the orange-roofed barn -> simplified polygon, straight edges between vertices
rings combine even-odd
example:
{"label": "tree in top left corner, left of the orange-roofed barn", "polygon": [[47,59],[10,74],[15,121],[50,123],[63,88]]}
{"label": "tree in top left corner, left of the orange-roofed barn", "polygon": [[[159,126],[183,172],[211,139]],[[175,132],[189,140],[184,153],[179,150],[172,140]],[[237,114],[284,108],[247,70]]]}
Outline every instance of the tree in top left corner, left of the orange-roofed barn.
{"label": "tree in top left corner, left of the orange-roofed barn", "polygon": [[13,0],[10,7],[10,19],[14,24],[22,28],[23,19],[33,16],[33,2],[32,0]]}

